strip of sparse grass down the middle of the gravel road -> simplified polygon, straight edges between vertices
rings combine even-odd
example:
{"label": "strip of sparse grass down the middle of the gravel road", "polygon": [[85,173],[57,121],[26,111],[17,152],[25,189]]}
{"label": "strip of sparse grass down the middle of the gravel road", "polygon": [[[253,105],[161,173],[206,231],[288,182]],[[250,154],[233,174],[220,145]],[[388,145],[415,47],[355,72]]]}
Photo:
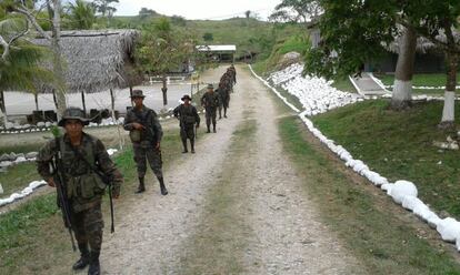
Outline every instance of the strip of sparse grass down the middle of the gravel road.
{"label": "strip of sparse grass down the middle of the gravel road", "polygon": [[206,194],[201,222],[181,256],[180,274],[244,273],[246,240],[253,233],[239,214],[244,204],[244,179],[234,171],[244,165],[256,131],[257,122],[248,120],[233,132],[232,150],[227,156],[231,161]]}

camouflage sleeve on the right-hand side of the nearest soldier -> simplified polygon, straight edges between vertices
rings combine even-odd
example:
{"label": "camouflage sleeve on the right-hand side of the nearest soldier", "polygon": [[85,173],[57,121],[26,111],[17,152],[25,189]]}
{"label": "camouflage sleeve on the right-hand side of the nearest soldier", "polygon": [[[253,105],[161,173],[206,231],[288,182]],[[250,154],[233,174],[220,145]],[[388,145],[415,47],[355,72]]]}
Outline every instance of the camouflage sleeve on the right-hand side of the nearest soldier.
{"label": "camouflage sleeve on the right-hand side of the nearest soldier", "polygon": [[123,183],[123,175],[118,171],[116,164],[107,153],[106,146],[100,140],[96,141],[96,156],[99,163],[99,167],[112,180],[113,193],[116,195],[120,194],[120,187]]}

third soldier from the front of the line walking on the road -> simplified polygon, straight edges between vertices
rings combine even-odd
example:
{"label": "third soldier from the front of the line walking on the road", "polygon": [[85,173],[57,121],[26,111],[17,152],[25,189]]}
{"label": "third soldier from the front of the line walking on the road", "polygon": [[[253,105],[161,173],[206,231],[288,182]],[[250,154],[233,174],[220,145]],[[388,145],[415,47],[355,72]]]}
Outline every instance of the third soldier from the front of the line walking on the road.
{"label": "third soldier from the front of the line walking on the road", "polygon": [[197,108],[190,104],[192,100],[188,94],[183,95],[183,104],[174,109],[174,116],[180,121],[180,138],[182,139],[183,151],[188,153],[187,139],[190,140],[191,153],[194,154],[194,126],[200,126],[200,115],[198,115]]}

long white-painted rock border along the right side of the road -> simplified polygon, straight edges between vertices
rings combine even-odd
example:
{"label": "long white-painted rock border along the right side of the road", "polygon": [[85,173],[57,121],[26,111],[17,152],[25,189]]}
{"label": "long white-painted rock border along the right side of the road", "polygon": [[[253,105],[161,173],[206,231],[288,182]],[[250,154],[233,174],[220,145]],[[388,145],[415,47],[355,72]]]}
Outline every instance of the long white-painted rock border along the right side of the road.
{"label": "long white-painted rock border along the right side of the road", "polygon": [[368,179],[372,184],[380,187],[382,191],[386,191],[393,201],[400,204],[408,211],[411,211],[416,216],[427,222],[430,227],[436,228],[441,235],[441,238],[449,243],[456,243],[457,249],[460,252],[460,222],[452,217],[446,217],[441,220],[434,212],[432,212],[428,205],[426,205],[421,200],[417,197],[417,186],[409,181],[397,181],[396,183],[389,183],[388,180],[381,176],[379,173],[369,170],[369,167],[360,160],[354,160],[352,155],[341,145],[337,145],[334,141],[328,139],[321,133],[317,128],[314,128],[313,122],[309,120],[306,115],[307,112],[303,111],[299,113],[297,108],[288,102],[273,86],[271,86],[267,81],[260,78],[249,64],[249,69],[252,74],[259,79],[264,85],[267,85],[271,91],[273,91],[288,106],[290,106],[294,112],[299,114],[299,118],[307,125],[308,130],[317,136],[323,144],[326,144],[333,153],[336,153],[346,165],[351,167],[354,172]]}

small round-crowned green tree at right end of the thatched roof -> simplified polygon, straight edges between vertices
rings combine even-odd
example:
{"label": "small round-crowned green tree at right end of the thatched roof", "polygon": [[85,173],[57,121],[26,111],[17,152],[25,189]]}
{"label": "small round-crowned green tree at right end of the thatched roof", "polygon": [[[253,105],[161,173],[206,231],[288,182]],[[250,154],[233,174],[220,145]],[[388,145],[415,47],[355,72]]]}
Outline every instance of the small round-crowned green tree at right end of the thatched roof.
{"label": "small round-crowned green tree at right end of the thatched roof", "polygon": [[160,18],[143,30],[138,51],[144,71],[161,75],[163,104],[168,104],[167,74],[177,71],[194,53],[194,43],[183,29],[173,29],[168,18]]}

